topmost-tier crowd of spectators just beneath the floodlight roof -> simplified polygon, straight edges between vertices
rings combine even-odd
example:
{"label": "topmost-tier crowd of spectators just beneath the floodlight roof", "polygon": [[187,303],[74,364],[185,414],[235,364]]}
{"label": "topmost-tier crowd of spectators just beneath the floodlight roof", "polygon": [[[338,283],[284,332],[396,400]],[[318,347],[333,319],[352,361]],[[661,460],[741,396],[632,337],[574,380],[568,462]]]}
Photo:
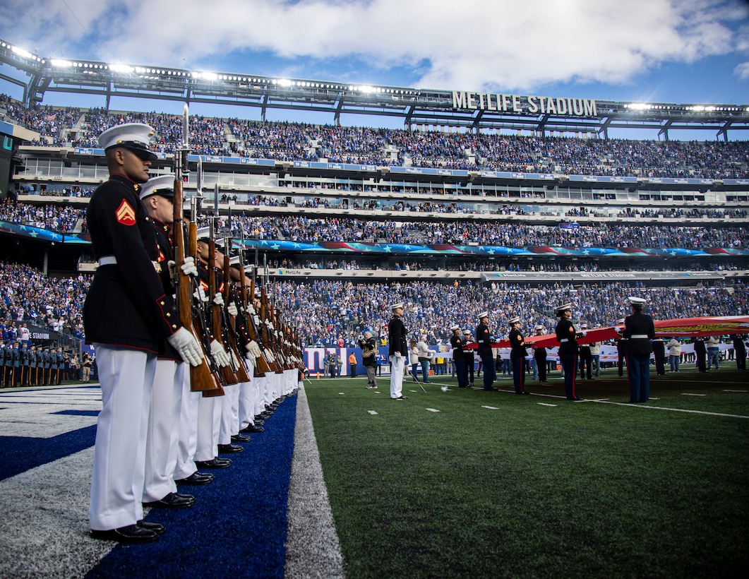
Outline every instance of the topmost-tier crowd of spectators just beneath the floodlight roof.
{"label": "topmost-tier crowd of spectators just beneath the floodlight roof", "polygon": [[[182,118],[157,112],[112,113],[58,109],[3,97],[4,115],[64,145],[96,147],[115,124],[145,122],[157,131],[154,148],[170,153],[181,140]],[[83,118],[82,118],[83,117]],[[339,127],[238,118],[190,118],[192,152],[281,161],[327,160],[378,166],[417,166],[474,171],[612,175],[639,178],[749,178],[747,141],[647,141],[580,137],[509,136],[492,133],[408,131]]]}

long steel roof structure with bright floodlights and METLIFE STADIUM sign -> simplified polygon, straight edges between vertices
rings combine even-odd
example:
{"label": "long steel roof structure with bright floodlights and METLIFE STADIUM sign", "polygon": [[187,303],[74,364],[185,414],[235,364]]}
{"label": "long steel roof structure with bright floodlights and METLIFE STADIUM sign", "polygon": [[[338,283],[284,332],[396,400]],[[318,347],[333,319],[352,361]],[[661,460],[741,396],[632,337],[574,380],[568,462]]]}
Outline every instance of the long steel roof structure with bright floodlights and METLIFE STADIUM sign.
{"label": "long steel roof structure with bright floodlights and METLIFE STADIUM sign", "polygon": [[[24,103],[43,102],[48,92],[151,98],[185,103],[252,106],[265,120],[268,109],[402,118],[404,127],[428,125],[466,130],[530,130],[539,134],[595,133],[609,129],[652,129],[668,140],[673,130],[749,130],[749,103],[634,103],[584,98],[443,91],[382,85],[356,85],[245,73],[58,60],[34,55],[0,40],[0,63],[15,69],[0,80],[24,89]],[[22,74],[18,74],[18,73]],[[19,78],[20,77],[20,78]]]}

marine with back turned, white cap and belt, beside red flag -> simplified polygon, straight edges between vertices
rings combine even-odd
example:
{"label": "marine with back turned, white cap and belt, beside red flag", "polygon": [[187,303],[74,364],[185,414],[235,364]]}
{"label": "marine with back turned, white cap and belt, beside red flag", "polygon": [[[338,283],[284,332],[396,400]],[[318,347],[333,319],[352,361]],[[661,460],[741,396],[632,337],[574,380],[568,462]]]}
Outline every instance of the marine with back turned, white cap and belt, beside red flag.
{"label": "marine with back turned, white cap and belt, beside red flag", "polygon": [[632,313],[624,319],[622,336],[627,339],[629,401],[646,402],[650,398],[650,353],[655,326],[653,318],[643,314],[645,298],[628,297],[628,300]]}

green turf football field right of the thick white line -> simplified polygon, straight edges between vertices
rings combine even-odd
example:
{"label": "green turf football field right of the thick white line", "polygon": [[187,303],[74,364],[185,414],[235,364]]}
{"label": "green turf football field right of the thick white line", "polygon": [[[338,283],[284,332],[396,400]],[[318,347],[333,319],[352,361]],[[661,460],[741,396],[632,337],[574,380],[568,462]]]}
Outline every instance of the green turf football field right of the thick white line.
{"label": "green turf football field right of the thick white line", "polygon": [[646,404],[613,369],[577,402],[558,372],[531,395],[407,377],[406,401],[386,376],[306,381],[348,577],[743,576],[749,374],[735,367],[652,375]]}

